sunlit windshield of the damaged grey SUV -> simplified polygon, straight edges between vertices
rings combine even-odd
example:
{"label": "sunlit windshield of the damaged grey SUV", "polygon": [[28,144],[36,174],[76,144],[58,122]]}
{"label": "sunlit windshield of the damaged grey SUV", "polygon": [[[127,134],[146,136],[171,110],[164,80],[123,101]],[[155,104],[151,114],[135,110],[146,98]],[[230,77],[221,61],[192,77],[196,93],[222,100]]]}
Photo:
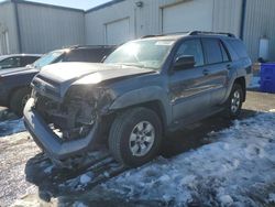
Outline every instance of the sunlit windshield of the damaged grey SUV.
{"label": "sunlit windshield of the damaged grey SUV", "polygon": [[174,41],[157,40],[129,42],[111,53],[105,63],[160,69],[173,44]]}

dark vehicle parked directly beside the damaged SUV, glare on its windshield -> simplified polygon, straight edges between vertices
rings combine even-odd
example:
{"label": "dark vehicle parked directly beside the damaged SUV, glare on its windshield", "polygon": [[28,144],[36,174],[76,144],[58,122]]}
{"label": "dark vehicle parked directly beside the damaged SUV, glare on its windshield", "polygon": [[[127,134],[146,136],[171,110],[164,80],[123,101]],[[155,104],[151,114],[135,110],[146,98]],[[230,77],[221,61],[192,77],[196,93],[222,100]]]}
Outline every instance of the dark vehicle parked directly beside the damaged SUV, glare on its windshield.
{"label": "dark vehicle parked directly beside the damaged SUV, glare on its windshield", "polygon": [[9,107],[18,116],[22,116],[31,95],[30,84],[43,66],[59,62],[98,63],[113,50],[114,46],[72,46],[50,52],[26,67],[0,69],[0,106]]}

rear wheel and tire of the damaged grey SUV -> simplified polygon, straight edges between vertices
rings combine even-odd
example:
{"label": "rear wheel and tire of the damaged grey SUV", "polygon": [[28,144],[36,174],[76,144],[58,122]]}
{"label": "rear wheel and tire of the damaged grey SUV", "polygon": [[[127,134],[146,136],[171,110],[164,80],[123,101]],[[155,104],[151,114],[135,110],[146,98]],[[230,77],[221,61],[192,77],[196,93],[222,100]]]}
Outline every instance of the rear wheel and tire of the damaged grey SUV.
{"label": "rear wheel and tire of the damaged grey SUV", "polygon": [[234,84],[226,103],[226,116],[237,119],[242,110],[244,91],[240,84]]}

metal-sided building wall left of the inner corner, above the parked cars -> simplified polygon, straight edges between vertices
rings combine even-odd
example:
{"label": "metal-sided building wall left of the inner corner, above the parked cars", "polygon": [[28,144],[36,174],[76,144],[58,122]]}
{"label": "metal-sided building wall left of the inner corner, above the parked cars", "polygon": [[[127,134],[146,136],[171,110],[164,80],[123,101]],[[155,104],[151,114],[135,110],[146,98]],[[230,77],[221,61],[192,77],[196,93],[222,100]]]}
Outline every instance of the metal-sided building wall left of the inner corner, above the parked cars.
{"label": "metal-sided building wall left of the inner corner, above the parked cars", "polygon": [[0,25],[4,25],[2,30],[6,31],[0,32],[3,40],[0,54],[46,53],[85,44],[84,15],[85,12],[78,9],[22,0],[4,1],[0,4]]}

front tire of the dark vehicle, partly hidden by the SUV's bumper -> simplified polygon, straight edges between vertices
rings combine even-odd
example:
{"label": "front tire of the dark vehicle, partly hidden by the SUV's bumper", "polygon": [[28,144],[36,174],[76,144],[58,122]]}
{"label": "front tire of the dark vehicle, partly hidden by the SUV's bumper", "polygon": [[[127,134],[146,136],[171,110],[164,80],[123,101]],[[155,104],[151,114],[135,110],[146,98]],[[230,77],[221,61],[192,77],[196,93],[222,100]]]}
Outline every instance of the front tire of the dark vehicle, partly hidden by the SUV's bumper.
{"label": "front tire of the dark vehicle, partly hidden by the SUV's bumper", "polygon": [[15,90],[10,99],[10,109],[16,116],[22,117],[23,109],[26,103],[26,100],[30,98],[31,89],[30,88],[20,88]]}

